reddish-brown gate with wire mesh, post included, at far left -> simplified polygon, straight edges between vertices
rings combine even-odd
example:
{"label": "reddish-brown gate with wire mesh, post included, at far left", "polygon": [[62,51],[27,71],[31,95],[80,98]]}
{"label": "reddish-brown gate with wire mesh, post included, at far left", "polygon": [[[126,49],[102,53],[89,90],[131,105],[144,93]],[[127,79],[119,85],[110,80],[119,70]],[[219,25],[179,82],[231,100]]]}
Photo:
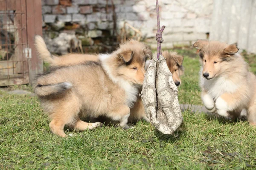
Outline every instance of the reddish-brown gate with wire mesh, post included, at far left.
{"label": "reddish-brown gate with wire mesh, post included, at far left", "polygon": [[28,84],[43,72],[36,34],[42,34],[41,0],[0,0],[0,86]]}

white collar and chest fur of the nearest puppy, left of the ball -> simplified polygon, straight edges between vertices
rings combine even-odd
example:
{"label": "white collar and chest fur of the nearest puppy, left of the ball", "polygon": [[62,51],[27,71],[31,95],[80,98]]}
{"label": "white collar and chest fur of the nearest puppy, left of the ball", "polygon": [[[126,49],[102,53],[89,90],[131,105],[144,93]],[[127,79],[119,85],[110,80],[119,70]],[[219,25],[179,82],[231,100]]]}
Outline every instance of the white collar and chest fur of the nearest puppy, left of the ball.
{"label": "white collar and chest fur of the nearest puppy, left of the ball", "polygon": [[113,76],[113,74],[111,73],[111,68],[107,64],[105,64],[105,60],[108,59],[108,57],[111,57],[111,55],[110,54],[99,55],[99,59],[103,62],[102,67],[104,68],[104,70],[106,71],[110,79],[114,83],[118,84],[119,87],[125,91],[125,98],[126,98],[127,105],[131,108],[134,105],[134,103],[137,101],[138,89],[132,86],[128,81],[122,78]]}

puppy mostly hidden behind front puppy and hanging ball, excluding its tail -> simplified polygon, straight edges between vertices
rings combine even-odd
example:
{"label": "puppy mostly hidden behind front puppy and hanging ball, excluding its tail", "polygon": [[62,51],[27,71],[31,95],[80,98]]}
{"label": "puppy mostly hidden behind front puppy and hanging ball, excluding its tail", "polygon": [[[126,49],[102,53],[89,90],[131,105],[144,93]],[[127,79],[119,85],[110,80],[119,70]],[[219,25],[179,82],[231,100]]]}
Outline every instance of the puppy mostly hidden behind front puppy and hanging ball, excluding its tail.
{"label": "puppy mostly hidden behind front puppy and hanging ball, excluding its tail", "polygon": [[[147,47],[147,59],[145,62],[145,70],[147,70],[148,65],[150,63],[150,59],[152,59],[152,54],[150,52],[150,48]],[[172,77],[174,79],[175,85],[179,86],[181,83],[180,76],[183,74],[183,56],[178,55],[176,52],[168,52],[163,51],[163,56],[166,58],[166,62],[168,65],[169,70],[172,73]],[[144,57],[144,56],[140,56]],[[49,56],[44,55],[41,56],[41,59],[43,59],[45,62],[48,62],[50,66],[68,66],[68,65],[77,65],[81,63],[85,63],[87,61],[98,61],[99,57],[97,55],[89,55],[89,54],[67,54],[64,56]],[[142,86],[138,86],[138,91],[141,92]],[[139,120],[144,119],[146,122],[149,122],[149,119],[147,118],[145,114],[144,105],[142,102],[142,99],[139,95],[137,95],[137,102],[135,102],[134,106],[130,108],[131,114],[128,118],[128,122],[137,122]],[[97,119],[91,119],[93,121]],[[101,122],[104,122],[106,120],[105,117],[100,117],[99,119]]]}

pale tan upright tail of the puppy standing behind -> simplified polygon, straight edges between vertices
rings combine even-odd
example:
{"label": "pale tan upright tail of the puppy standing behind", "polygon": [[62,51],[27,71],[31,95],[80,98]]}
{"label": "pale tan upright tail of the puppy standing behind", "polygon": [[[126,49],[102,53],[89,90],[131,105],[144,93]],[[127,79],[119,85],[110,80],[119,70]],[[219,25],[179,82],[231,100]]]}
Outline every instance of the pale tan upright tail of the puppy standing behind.
{"label": "pale tan upright tail of the puppy standing behind", "polygon": [[47,49],[44,39],[40,35],[35,36],[35,49],[38,56],[44,61],[48,62],[50,65],[56,65],[58,57],[53,56]]}

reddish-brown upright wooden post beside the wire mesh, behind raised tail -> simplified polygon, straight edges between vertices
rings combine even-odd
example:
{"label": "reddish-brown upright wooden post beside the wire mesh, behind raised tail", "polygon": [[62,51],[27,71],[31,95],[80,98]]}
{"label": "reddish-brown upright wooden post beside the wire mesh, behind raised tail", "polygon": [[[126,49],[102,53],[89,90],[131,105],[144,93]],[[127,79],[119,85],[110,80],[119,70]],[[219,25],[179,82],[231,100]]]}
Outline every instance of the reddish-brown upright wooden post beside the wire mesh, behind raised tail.
{"label": "reddish-brown upright wooden post beside the wire mesh, behind raised tail", "polygon": [[29,58],[29,83],[31,84],[37,74],[43,73],[43,61],[36,55],[34,46],[35,35],[43,34],[41,0],[26,0],[26,9],[28,53],[31,49],[31,58]]}

